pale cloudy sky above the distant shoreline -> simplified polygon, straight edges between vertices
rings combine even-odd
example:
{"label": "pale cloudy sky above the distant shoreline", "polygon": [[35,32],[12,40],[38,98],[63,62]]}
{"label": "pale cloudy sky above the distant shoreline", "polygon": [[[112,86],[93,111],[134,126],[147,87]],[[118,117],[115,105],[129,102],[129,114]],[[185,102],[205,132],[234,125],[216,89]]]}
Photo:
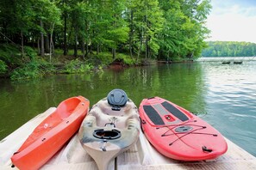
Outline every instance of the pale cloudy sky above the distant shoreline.
{"label": "pale cloudy sky above the distant shoreline", "polygon": [[211,0],[206,40],[256,43],[256,0]]}

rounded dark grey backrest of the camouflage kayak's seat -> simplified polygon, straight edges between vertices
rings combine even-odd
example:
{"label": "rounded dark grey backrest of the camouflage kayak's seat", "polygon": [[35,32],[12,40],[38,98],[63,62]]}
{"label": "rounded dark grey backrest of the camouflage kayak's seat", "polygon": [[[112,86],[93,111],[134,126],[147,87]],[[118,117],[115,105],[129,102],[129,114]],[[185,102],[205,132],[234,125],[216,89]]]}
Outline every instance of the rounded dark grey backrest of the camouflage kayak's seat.
{"label": "rounded dark grey backrest of the camouflage kayak's seat", "polygon": [[121,107],[126,105],[128,96],[122,89],[116,88],[109,92],[107,99],[112,110],[120,111]]}

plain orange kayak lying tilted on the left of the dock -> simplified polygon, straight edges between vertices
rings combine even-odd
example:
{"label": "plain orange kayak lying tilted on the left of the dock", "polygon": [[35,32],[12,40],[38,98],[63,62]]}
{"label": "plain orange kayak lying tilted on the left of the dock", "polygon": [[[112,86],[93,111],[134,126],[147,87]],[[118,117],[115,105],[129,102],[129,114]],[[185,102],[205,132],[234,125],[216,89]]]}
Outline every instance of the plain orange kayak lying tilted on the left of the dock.
{"label": "plain orange kayak lying tilted on the left of the dock", "polygon": [[62,101],[11,157],[14,166],[28,170],[44,165],[78,131],[89,106],[83,96]]}

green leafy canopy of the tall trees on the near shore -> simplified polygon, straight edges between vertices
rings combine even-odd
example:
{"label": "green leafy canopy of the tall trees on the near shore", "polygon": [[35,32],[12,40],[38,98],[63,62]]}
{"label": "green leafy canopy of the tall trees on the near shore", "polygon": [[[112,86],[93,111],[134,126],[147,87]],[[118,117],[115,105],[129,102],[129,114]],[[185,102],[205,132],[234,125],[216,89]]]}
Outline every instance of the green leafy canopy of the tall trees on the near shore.
{"label": "green leafy canopy of the tall trees on the near shore", "polygon": [[24,36],[27,46],[35,46],[40,33],[53,31],[59,47],[67,43],[69,48],[115,48],[137,58],[188,58],[205,47],[210,9],[209,0],[2,0],[0,42],[8,37],[19,44]]}

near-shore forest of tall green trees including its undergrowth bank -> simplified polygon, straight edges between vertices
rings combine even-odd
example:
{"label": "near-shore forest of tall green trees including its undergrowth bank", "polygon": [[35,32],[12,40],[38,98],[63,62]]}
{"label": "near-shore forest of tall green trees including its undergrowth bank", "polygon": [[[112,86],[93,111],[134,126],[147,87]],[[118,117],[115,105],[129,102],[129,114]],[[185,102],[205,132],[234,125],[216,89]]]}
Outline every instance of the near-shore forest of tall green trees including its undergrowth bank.
{"label": "near-shore forest of tall green trees including its undergrowth bank", "polygon": [[66,58],[66,73],[116,58],[197,58],[210,9],[210,0],[1,0],[0,75],[49,74]]}

